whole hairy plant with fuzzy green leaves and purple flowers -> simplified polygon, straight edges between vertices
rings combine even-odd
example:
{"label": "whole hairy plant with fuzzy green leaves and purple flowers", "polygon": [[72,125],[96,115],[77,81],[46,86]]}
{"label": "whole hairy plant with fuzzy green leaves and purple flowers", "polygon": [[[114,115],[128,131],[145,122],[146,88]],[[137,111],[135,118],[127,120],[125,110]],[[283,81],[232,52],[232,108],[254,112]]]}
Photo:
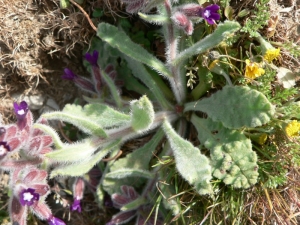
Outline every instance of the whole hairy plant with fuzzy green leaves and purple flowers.
{"label": "whole hairy plant with fuzzy green leaves and purple flowers", "polygon": [[[96,193],[100,205],[107,193],[120,209],[109,224],[125,224],[133,218],[136,224],[161,224],[168,222],[169,212],[174,217],[183,214],[180,202],[170,198],[177,189],[175,173],[195,195],[213,196],[213,180],[243,189],[257,183],[258,158],[251,130],[272,122],[274,105],[254,88],[234,86],[220,66],[211,71],[225,77],[226,84],[208,96],[198,91],[202,83],[196,85],[197,93],[190,93],[186,81],[188,60],[217,47],[240,25],[234,21],[217,24],[218,5],[170,0],[124,3],[129,12],[138,12],[143,20],[161,26],[166,61],[134,43],[121,28],[100,23],[97,50],[85,55],[91,78],[67,68],[63,75],[93,97],[84,97],[87,104],[68,104],[62,111],[43,114],[36,123],[25,102],[15,104],[17,125],[1,126],[0,134],[0,168],[11,172],[11,202],[24,211],[19,216],[12,209],[13,222],[26,224],[25,212],[30,208],[49,224],[64,224],[52,216],[45,203],[47,173],[50,178],[76,177],[71,209],[80,212],[84,175],[108,155],[112,160],[102,170]],[[146,14],[153,7],[156,14]],[[204,27],[215,28],[189,45],[183,37],[191,36],[195,25],[203,22]],[[202,67],[201,72],[205,75],[208,70]],[[122,87],[140,98],[128,100],[121,95]],[[63,143],[49,120],[73,124],[86,135],[78,142]],[[194,140],[191,127],[197,131]],[[145,135],[150,137],[144,145],[123,158],[114,157],[125,142]],[[21,159],[10,159],[13,152]],[[153,154],[159,159],[169,157],[170,162],[155,162]],[[38,179],[30,176],[33,173],[42,175]]]}

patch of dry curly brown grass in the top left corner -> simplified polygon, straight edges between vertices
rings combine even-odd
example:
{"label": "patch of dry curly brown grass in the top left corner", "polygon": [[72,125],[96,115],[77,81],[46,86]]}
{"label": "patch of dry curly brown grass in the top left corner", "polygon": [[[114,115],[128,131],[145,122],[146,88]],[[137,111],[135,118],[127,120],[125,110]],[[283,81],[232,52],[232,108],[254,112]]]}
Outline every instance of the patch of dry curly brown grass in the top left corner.
{"label": "patch of dry curly brown grass in the top left corner", "polygon": [[64,67],[84,74],[82,51],[93,35],[84,15],[72,6],[61,10],[59,0],[0,0],[0,111],[4,120],[12,119],[14,93],[46,93],[61,106],[68,90],[76,95],[60,76]]}

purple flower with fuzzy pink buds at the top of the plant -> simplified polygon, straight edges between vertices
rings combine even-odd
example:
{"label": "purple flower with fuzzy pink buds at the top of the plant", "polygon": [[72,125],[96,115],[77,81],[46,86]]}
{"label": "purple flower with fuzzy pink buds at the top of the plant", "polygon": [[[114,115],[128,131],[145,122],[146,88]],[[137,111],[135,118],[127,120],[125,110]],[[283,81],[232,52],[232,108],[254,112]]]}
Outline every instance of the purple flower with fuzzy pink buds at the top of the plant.
{"label": "purple flower with fuzzy pink buds at the top of the plant", "polygon": [[187,35],[191,35],[194,31],[192,20],[202,17],[208,24],[213,25],[221,18],[218,13],[219,9],[220,6],[215,4],[204,8],[198,4],[185,4],[177,7],[177,10],[173,13],[172,20]]}

